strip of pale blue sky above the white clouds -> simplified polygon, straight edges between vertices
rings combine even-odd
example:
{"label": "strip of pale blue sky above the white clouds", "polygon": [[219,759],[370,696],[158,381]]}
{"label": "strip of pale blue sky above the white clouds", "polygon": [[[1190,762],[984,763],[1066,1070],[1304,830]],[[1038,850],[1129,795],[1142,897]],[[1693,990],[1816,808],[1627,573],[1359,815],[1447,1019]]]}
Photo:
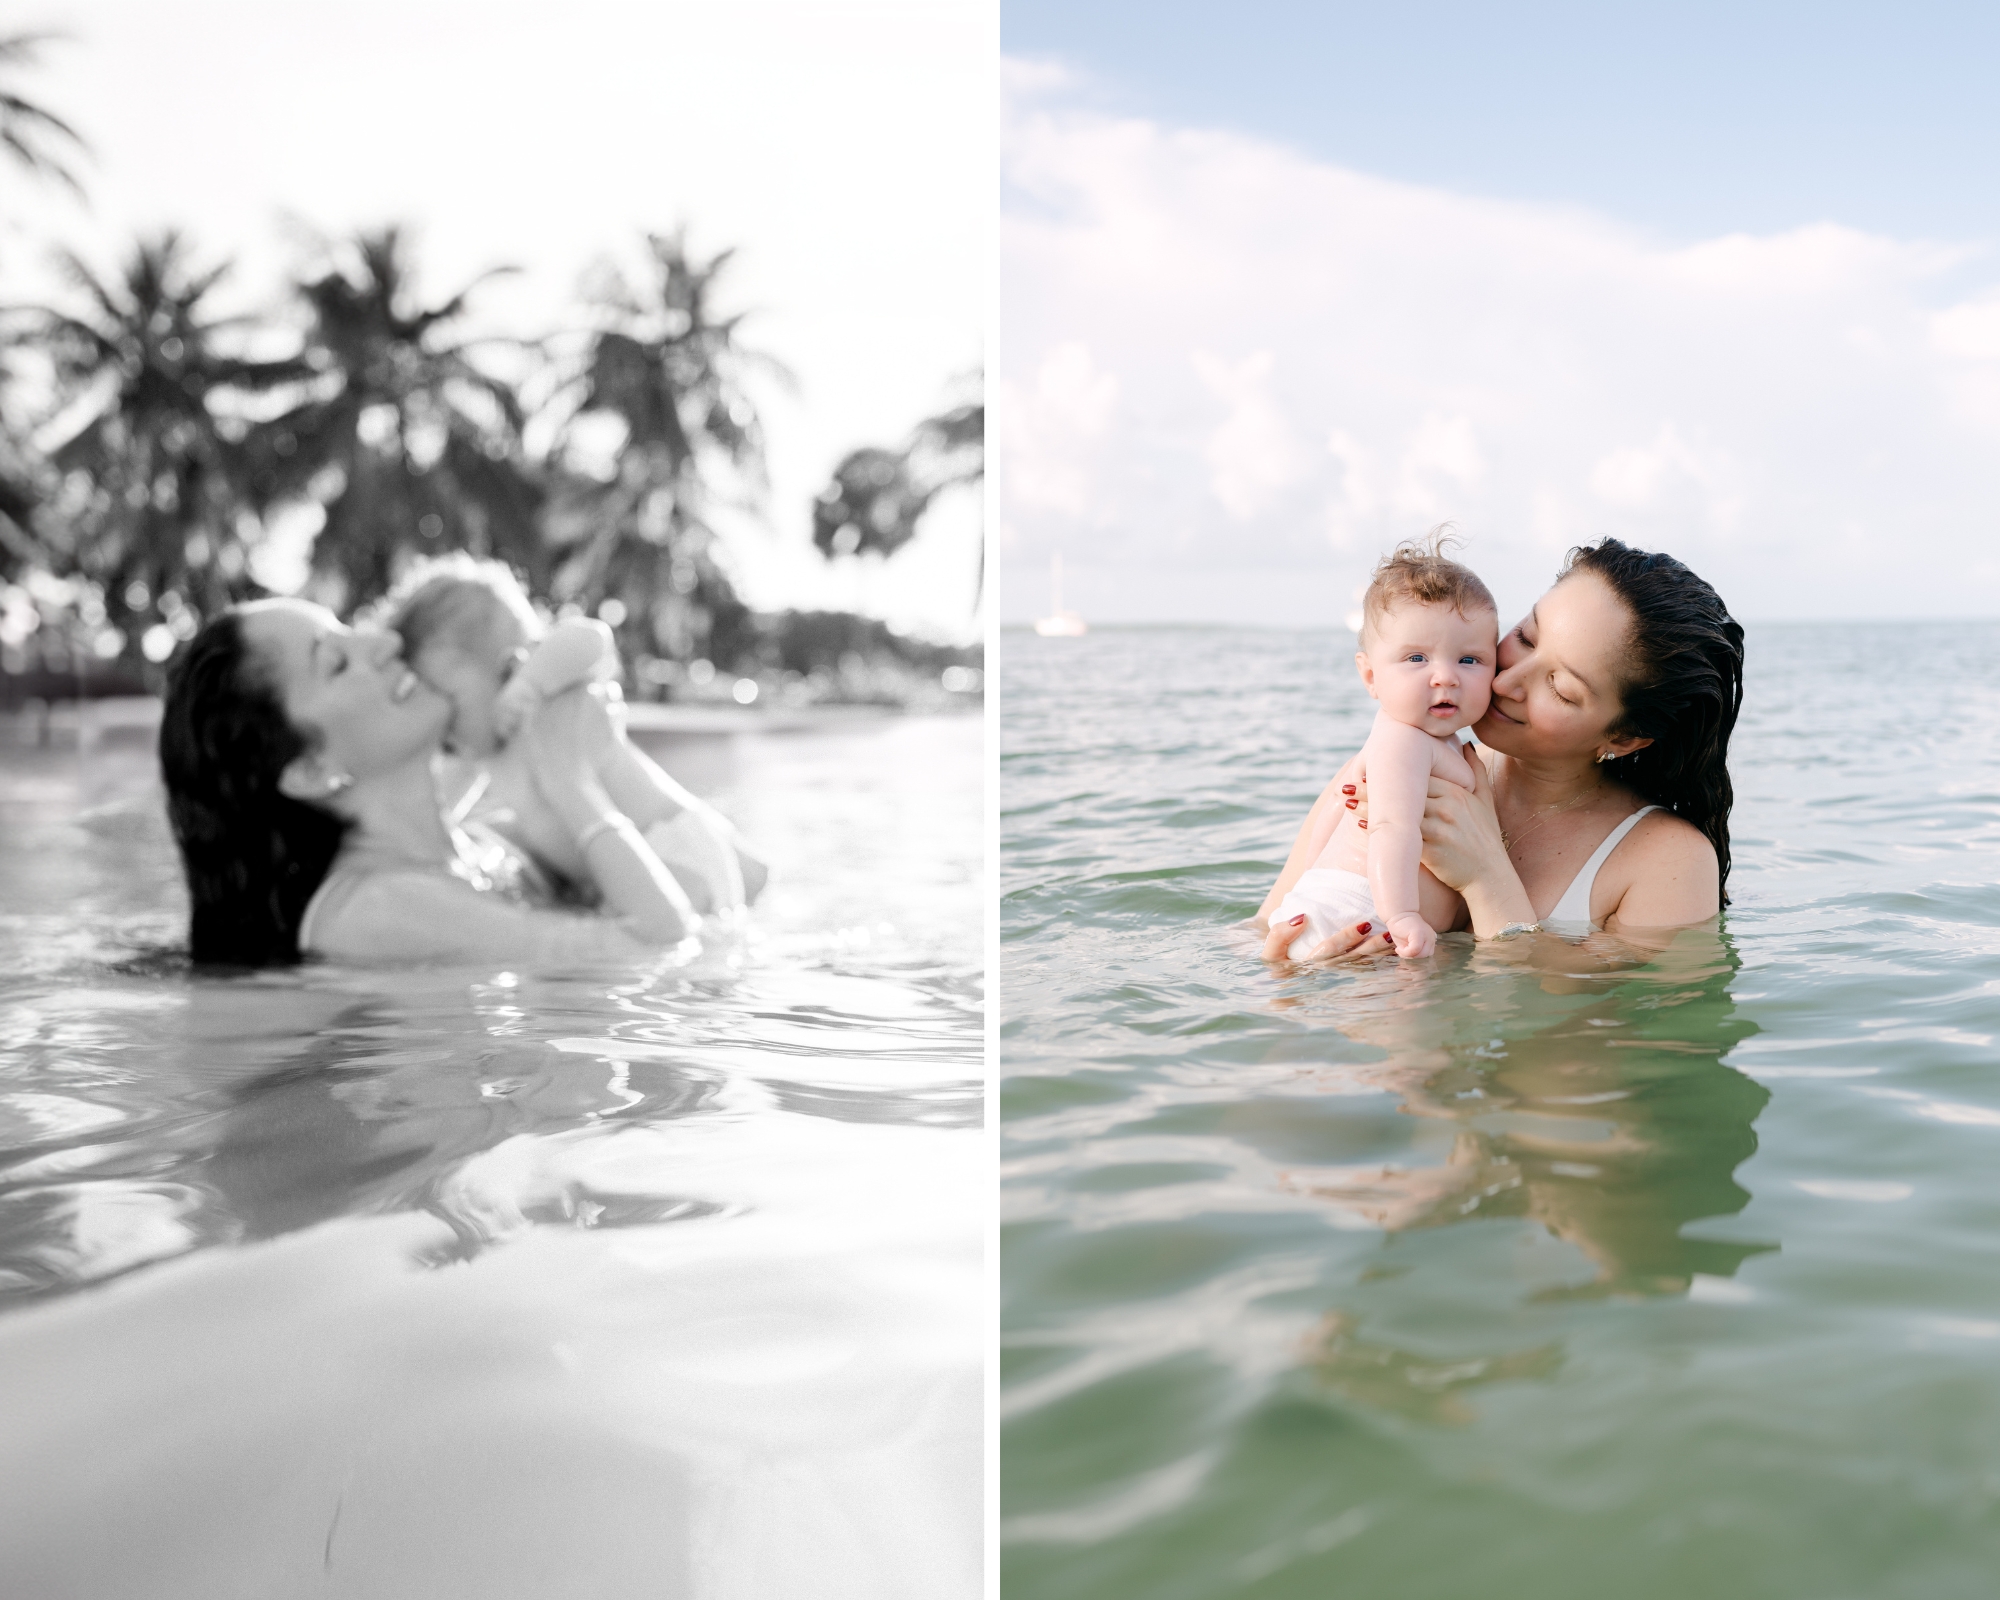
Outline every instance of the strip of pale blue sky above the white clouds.
{"label": "strip of pale blue sky above the white clouds", "polygon": [[2000,238],[2000,6],[1006,0],[1108,110],[1706,238]]}

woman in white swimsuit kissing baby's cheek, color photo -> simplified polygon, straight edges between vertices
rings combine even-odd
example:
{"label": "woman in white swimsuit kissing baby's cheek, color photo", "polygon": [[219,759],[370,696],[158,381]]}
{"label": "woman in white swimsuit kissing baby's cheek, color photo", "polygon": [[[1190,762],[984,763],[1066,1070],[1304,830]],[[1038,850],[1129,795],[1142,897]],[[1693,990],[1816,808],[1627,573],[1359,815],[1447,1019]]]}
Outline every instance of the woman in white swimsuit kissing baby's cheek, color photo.
{"label": "woman in white swimsuit kissing baby's cheek, color photo", "polygon": [[[1742,626],[1672,556],[1614,538],[1572,550],[1554,588],[1500,640],[1492,706],[1474,724],[1486,758],[1472,764],[1474,788],[1430,782],[1424,866],[1464,902],[1456,926],[1478,938],[1630,934],[1720,912],[1742,662]],[[1272,926],[1270,916],[1312,864],[1316,824],[1364,804],[1366,782],[1348,762],[1264,896],[1266,960],[1298,938],[1300,920]],[[1380,948],[1382,930],[1356,922],[1308,958]]]}

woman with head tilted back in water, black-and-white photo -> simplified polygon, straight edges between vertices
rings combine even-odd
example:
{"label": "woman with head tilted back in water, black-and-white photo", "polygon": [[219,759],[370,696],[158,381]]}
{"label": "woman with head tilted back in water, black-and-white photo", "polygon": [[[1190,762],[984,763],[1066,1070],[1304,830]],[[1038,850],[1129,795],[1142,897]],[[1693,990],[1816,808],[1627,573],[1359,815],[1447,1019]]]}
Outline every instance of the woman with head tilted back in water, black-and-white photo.
{"label": "woman with head tilted back in water, black-and-white photo", "polygon": [[394,634],[322,606],[258,600],[202,628],[160,722],[194,960],[630,960],[694,932],[688,896],[594,778],[618,736],[602,700],[562,694],[522,738],[604,916],[556,910],[504,840],[448,824],[432,754],[450,716]]}

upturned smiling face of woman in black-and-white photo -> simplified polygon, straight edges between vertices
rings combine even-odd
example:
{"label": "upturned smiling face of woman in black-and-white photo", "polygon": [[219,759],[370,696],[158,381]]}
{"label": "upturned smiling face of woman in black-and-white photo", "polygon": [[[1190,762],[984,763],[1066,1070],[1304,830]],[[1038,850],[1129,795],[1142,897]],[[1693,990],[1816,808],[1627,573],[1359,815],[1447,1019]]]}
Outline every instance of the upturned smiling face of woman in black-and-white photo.
{"label": "upturned smiling face of woman in black-and-white photo", "polygon": [[452,706],[402,664],[394,634],[358,634],[304,600],[256,600],[242,630],[330,770],[368,778],[436,750]]}

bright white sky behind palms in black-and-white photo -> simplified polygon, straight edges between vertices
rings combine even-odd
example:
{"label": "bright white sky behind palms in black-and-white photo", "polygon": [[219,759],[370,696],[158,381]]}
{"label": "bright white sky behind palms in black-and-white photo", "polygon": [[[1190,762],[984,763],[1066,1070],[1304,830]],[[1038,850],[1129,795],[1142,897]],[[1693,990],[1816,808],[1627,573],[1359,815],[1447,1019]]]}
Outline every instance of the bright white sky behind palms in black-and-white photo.
{"label": "bright white sky behind palms in black-and-white photo", "polygon": [[766,392],[772,496],[730,530],[760,606],[852,606],[978,632],[978,496],[892,562],[828,566],[810,502],[834,464],[896,444],[984,360],[992,254],[992,10],[982,0],[48,0],[32,80],[92,144],[88,206],[0,172],[0,294],[50,292],[50,244],[110,266],[182,226],[268,302],[306,230],[406,220],[426,298],[516,264],[482,332],[564,324],[604,258],[690,224],[734,246]]}

